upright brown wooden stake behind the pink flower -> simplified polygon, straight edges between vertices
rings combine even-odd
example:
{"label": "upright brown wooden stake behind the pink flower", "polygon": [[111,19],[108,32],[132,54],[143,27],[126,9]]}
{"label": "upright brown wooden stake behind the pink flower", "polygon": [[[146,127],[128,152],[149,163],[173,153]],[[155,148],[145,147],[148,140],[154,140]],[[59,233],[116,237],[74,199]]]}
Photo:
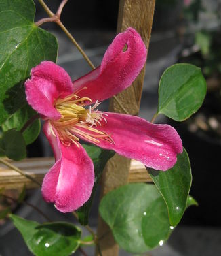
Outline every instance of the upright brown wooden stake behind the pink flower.
{"label": "upright brown wooden stake behind the pink flower", "polygon": [[[148,48],[154,7],[155,0],[120,0],[117,33],[125,31],[127,27],[133,27],[140,33],[146,44],[146,48]],[[121,102],[122,106],[129,114],[138,115],[144,74],[145,67],[133,82],[132,86],[117,95],[117,100]],[[122,108],[120,108],[115,99],[111,99],[109,109],[111,112],[123,113]],[[108,162],[102,176],[101,197],[128,182],[129,167],[130,160],[117,154]],[[110,231],[108,225],[98,217],[98,237],[103,237],[100,241],[102,256],[118,255],[119,246],[115,243],[111,232],[108,231]],[[104,234],[107,235],[103,236]],[[96,255],[99,255],[99,253],[96,252]]]}

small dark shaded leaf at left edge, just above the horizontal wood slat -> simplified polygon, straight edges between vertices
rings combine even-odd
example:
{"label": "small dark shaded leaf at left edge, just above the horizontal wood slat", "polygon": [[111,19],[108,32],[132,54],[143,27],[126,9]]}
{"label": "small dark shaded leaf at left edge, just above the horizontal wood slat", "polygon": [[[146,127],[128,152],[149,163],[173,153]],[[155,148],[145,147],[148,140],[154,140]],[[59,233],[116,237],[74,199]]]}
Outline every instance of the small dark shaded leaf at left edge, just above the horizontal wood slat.
{"label": "small dark shaded leaf at left edge, just above the horizontal wood slat", "polygon": [[15,129],[3,133],[0,140],[0,147],[10,159],[18,161],[26,157],[26,144],[23,135]]}

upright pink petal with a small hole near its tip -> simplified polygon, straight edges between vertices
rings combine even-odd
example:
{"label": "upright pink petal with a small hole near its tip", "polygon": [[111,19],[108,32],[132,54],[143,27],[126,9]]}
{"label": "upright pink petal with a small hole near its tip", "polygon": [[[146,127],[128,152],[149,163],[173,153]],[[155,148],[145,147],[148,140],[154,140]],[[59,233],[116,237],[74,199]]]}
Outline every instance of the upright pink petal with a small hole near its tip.
{"label": "upright pink petal with a small hole near its tip", "polygon": [[[127,49],[123,49],[127,46]],[[146,63],[146,46],[132,28],[120,33],[108,47],[100,67],[73,82],[80,97],[102,101],[132,84]],[[86,89],[83,89],[87,87]]]}

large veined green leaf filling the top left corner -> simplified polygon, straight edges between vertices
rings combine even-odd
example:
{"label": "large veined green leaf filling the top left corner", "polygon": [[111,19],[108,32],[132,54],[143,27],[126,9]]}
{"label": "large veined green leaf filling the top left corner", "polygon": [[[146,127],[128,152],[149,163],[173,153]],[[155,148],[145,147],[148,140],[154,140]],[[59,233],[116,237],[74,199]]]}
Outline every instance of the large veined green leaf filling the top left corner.
{"label": "large veined green leaf filling the top left corner", "polygon": [[[0,6],[1,124],[23,106],[24,90],[18,93],[16,89],[31,67],[44,60],[56,61],[58,43],[54,35],[35,25],[33,1],[0,0]],[[16,102],[13,107],[12,102]]]}

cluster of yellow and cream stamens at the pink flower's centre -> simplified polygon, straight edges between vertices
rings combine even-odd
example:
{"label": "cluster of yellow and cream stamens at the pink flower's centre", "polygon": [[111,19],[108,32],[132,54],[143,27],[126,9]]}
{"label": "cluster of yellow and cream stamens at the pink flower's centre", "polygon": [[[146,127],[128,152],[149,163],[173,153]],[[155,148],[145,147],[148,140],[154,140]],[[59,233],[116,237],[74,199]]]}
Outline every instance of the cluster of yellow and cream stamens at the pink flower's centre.
{"label": "cluster of yellow and cream stamens at the pink flower's centre", "polygon": [[54,107],[61,114],[59,120],[50,120],[52,134],[56,130],[60,141],[65,146],[70,146],[71,143],[79,146],[79,138],[89,140],[96,144],[100,143],[100,140],[106,140],[109,143],[113,143],[111,135],[104,133],[96,129],[98,126],[102,126],[102,123],[107,123],[104,116],[108,116],[103,112],[98,112],[96,108],[100,105],[98,101],[94,103],[94,106],[84,108],[85,101],[92,102],[87,97],[80,98],[76,94],[71,94],[64,99],[58,99]]}

